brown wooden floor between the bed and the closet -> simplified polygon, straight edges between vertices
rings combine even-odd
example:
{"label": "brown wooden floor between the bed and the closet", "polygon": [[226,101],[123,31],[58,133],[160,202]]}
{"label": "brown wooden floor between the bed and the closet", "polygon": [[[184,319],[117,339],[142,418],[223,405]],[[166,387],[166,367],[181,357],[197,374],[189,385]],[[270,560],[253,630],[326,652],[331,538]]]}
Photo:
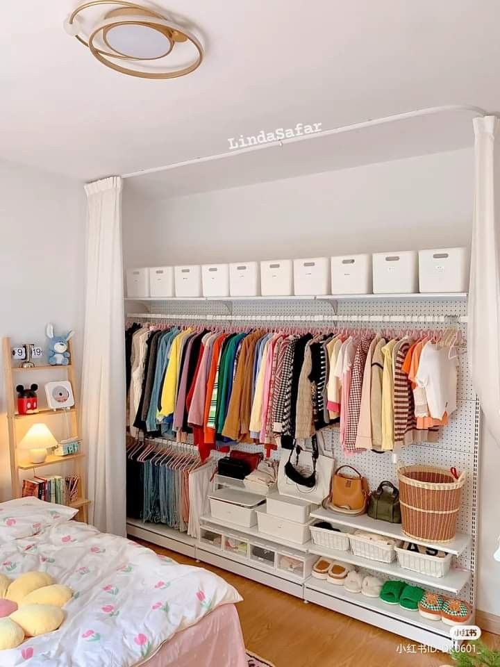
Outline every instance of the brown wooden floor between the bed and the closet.
{"label": "brown wooden floor between the bed and the closet", "polygon": [[[292,595],[206,563],[196,563],[163,547],[143,544],[179,563],[206,568],[235,586],[244,598],[236,607],[245,645],[274,662],[276,667],[439,667],[453,664],[447,655],[422,653],[419,646],[408,639],[349,616],[316,604],[304,604]],[[483,639],[488,645],[500,648],[500,636],[485,633]],[[401,647],[408,645],[414,646],[416,652],[401,653]]]}

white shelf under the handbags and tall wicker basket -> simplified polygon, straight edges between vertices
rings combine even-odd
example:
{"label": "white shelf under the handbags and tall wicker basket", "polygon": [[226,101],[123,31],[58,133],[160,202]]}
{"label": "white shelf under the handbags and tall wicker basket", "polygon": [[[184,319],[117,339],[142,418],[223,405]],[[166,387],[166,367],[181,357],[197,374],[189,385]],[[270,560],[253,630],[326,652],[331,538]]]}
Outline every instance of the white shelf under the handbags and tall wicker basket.
{"label": "white shelf under the handbags and tall wicker basket", "polygon": [[319,509],[311,512],[310,516],[315,519],[329,521],[341,526],[349,526],[351,528],[358,528],[360,530],[366,530],[371,533],[377,533],[378,535],[386,535],[397,540],[422,544],[426,547],[435,547],[436,549],[447,552],[448,554],[453,554],[454,556],[460,556],[460,554],[464,552],[471,543],[471,537],[463,533],[457,533],[455,539],[453,539],[451,542],[442,544],[436,544],[425,540],[418,540],[405,535],[401,529],[400,523],[389,523],[387,521],[372,519],[367,514],[349,516],[347,514],[340,514],[329,511],[328,509],[324,509],[324,507],[319,507]]}

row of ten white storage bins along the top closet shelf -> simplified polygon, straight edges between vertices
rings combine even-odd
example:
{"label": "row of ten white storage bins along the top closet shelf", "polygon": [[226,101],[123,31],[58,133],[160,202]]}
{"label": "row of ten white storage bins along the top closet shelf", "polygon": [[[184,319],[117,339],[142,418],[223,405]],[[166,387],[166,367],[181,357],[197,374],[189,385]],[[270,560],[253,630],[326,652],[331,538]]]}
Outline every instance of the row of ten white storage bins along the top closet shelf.
{"label": "row of ten white storage bins along the top closet shelf", "polygon": [[467,292],[469,254],[467,248],[442,248],[162,266],[128,269],[126,278],[131,298]]}

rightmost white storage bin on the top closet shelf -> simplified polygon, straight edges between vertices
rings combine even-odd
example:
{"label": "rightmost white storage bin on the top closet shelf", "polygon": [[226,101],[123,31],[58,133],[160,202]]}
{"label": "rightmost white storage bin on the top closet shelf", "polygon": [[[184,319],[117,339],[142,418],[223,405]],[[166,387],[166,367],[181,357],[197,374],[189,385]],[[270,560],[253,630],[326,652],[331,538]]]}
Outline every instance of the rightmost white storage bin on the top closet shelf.
{"label": "rightmost white storage bin on the top closet shelf", "polygon": [[419,250],[421,292],[467,292],[469,290],[467,248]]}

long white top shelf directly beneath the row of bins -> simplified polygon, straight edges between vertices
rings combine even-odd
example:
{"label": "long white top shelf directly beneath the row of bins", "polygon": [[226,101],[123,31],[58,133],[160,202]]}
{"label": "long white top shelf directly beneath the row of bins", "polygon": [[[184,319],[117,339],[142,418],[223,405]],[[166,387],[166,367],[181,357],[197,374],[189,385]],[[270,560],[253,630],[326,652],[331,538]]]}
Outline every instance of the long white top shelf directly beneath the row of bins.
{"label": "long white top shelf directly beneath the row of bins", "polygon": [[373,301],[373,300],[403,300],[403,301],[429,301],[435,299],[455,299],[456,301],[465,301],[467,292],[440,292],[440,293],[414,293],[414,294],[326,294],[326,295],[292,295],[292,296],[271,296],[271,297],[125,297],[125,301],[290,301],[304,300],[309,301]]}

